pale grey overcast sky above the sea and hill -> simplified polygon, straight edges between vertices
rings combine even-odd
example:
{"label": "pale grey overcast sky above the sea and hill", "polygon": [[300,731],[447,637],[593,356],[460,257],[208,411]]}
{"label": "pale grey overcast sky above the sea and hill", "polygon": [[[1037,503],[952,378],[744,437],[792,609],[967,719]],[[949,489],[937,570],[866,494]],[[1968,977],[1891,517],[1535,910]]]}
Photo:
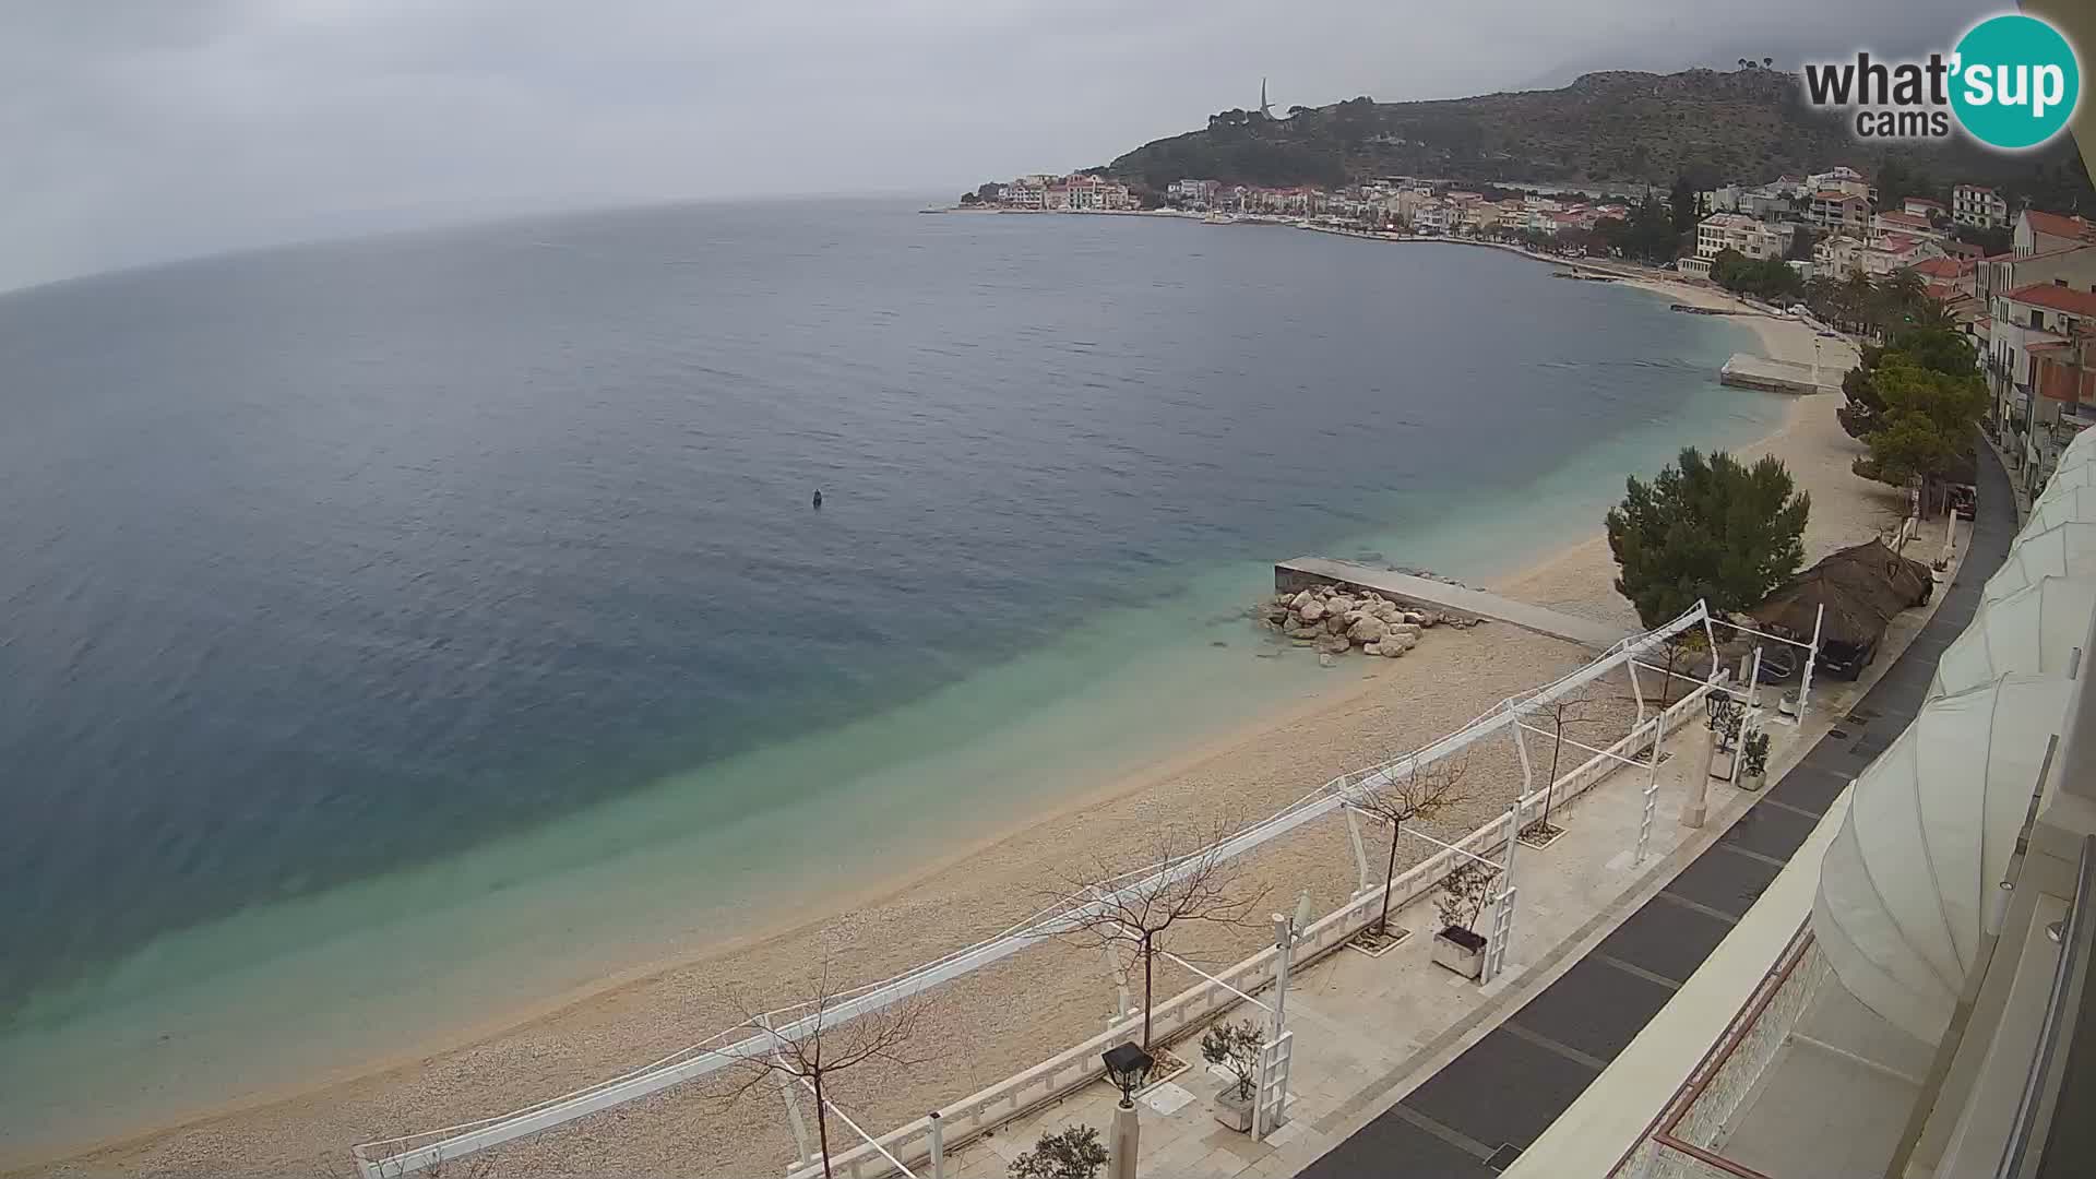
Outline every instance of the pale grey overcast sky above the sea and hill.
{"label": "pale grey overcast sky above the sea and hill", "polygon": [[[2006,4],[2004,4],[2006,6]],[[1249,107],[1943,46],[1970,0],[0,0],[0,287],[593,203],[958,193]]]}

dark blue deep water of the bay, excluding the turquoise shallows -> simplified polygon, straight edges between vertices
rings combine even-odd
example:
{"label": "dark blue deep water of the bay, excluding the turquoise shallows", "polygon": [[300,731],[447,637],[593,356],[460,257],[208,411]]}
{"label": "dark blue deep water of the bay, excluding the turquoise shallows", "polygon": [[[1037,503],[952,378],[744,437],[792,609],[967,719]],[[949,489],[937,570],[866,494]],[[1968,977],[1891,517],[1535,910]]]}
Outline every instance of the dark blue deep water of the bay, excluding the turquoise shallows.
{"label": "dark blue deep water of the bay, excluding the turquoise shallows", "polygon": [[0,296],[0,1026],[1193,569],[1696,428],[1735,331],[1490,250],[882,203]]}

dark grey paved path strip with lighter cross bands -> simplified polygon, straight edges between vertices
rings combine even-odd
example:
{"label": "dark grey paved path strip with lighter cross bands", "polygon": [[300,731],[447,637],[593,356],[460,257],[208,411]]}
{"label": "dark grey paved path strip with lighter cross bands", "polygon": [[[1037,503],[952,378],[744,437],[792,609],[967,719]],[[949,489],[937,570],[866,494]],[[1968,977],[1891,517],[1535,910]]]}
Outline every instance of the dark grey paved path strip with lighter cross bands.
{"label": "dark grey paved path strip with lighter cross bands", "polygon": [[1702,856],[1557,982],[1413,1089],[1306,1179],[1490,1179],[1587,1091],[1687,982],[1775,879],[1849,778],[1891,743],[1928,694],[1937,657],[1972,621],[1979,592],[2008,558],[2016,510],[2008,476],[1981,447],[1979,518],[1958,577],[1914,642],[1780,783]]}

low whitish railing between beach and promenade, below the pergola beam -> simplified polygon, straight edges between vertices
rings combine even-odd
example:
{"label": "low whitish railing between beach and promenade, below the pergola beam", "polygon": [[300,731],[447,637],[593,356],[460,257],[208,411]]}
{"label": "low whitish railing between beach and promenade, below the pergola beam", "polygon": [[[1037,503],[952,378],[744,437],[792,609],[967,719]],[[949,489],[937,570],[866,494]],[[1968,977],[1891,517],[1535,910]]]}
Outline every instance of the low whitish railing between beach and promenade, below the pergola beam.
{"label": "low whitish railing between beach and promenade, below the pergola beam", "polygon": [[[1685,724],[1700,724],[1700,713],[1704,711],[1704,694],[1708,686],[1698,686],[1666,709],[1666,734],[1681,732]],[[1555,793],[1553,808],[1591,791],[1610,772],[1622,766],[1618,757],[1629,757],[1637,749],[1652,743],[1654,722],[1647,720],[1635,726],[1620,741],[1610,745],[1610,753],[1595,753],[1587,762],[1574,766],[1570,772],[1559,776],[1547,791],[1534,791],[1520,799],[1520,814],[1541,812],[1545,793]],[[1520,818],[1515,818],[1515,829],[1520,829]],[[1471,856],[1490,858],[1505,850],[1507,820],[1494,818],[1484,827],[1471,831],[1463,839],[1455,841],[1455,848]],[[1459,852],[1442,850],[1419,864],[1406,869],[1392,881],[1392,908],[1402,908],[1436,887],[1455,866]],[[1383,906],[1381,885],[1362,892],[1344,906],[1327,913],[1325,917],[1310,923],[1310,927],[1295,942],[1295,969],[1323,959],[1325,955],[1344,946],[1354,934],[1360,934],[1375,921]],[[1274,984],[1274,969],[1279,963],[1279,950],[1268,946],[1249,959],[1243,959],[1222,971],[1216,978],[1235,990],[1245,994],[1258,994]],[[1218,986],[1216,982],[1201,982],[1191,986],[1170,999],[1161,999],[1151,1007],[1151,1041],[1172,1043],[1188,1034],[1191,1030],[1207,1024],[1218,1013],[1235,1007],[1239,996]],[[954,1101],[939,1110],[939,1137],[945,1150],[954,1150],[960,1143],[981,1137],[1012,1118],[1025,1116],[1067,1093],[1090,1085],[1105,1076],[1105,1066],[1100,1064],[1100,1053],[1113,1045],[1134,1041],[1142,1034],[1140,1013],[1113,1028],[1084,1041],[1054,1057],[1035,1064],[1025,1072],[1017,1072]],[[830,1171],[845,1179],[878,1179],[885,1175],[895,1175],[895,1164],[889,1156],[903,1160],[908,1166],[924,1158],[931,1158],[931,1116],[916,1118],[887,1135],[880,1135],[876,1143],[861,1143],[853,1150],[840,1152],[830,1158]],[[788,1179],[815,1179],[822,1175],[820,1160],[805,1160],[788,1171]]]}

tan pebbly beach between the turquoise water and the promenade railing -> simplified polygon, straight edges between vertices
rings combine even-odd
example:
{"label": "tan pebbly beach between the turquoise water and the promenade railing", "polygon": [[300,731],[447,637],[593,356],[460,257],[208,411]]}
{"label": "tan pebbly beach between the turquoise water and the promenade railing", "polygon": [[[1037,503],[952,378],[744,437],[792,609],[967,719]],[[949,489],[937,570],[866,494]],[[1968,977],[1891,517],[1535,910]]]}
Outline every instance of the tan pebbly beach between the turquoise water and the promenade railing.
{"label": "tan pebbly beach between the turquoise water and the promenade railing", "polygon": [[[1738,306],[1708,287],[1626,281],[1675,302]],[[1771,357],[1813,359],[1815,336],[1805,323],[1765,315],[1744,323]],[[1819,344],[1830,369],[1853,363],[1849,344]],[[1836,403],[1836,396],[1798,399],[1777,432],[1738,451],[1748,459],[1780,457],[1811,493],[1807,560],[1891,533],[1901,512],[1895,489],[1851,474],[1861,449],[1842,434]],[[1494,590],[1629,629],[1635,615],[1616,596],[1614,573],[1595,518],[1591,535],[1543,554]],[[1247,585],[1247,604],[1260,590]],[[941,862],[899,864],[891,879],[845,898],[836,913],[790,915],[767,936],[631,971],[541,1011],[511,1013],[501,1020],[505,1026],[478,1028],[465,1043],[419,1059],[15,1173],[348,1175],[348,1148],[356,1141],[495,1116],[602,1080],[729,1028],[744,1009],[805,999],[824,971],[832,988],[887,978],[1004,929],[1100,866],[1140,864],[1159,824],[1209,829],[1218,820],[1262,818],[1335,774],[1450,732],[1587,659],[1574,644],[1507,625],[1434,629],[1402,661],[1348,657],[1316,699],[1276,707],[1226,738],[1132,766],[1117,780],[1073,785],[1023,827],[958,848]],[[1629,709],[1624,699],[1610,701],[1599,730],[1622,732]],[[1511,747],[1482,749],[1467,772],[1469,799],[1429,824],[1442,837],[1499,814],[1520,785]],[[1415,858],[1409,848],[1400,866]],[[1264,848],[1243,873],[1247,894],[1264,889],[1272,898],[1258,913],[1287,908],[1304,887],[1325,913],[1354,885],[1346,824],[1314,822]],[[1197,963],[1226,963],[1264,940],[1258,927],[1201,927],[1174,950]],[[1157,992],[1188,982],[1186,971],[1170,967],[1159,971]],[[922,1036],[949,1049],[939,1062],[901,1076],[849,1076],[834,1099],[880,1133],[1096,1034],[1111,1007],[1113,984],[1094,950],[1033,948],[937,994]],[[792,1154],[778,1103],[771,1087],[740,1101],[729,1101],[719,1085],[681,1087],[486,1158],[499,1175],[778,1175]]]}

